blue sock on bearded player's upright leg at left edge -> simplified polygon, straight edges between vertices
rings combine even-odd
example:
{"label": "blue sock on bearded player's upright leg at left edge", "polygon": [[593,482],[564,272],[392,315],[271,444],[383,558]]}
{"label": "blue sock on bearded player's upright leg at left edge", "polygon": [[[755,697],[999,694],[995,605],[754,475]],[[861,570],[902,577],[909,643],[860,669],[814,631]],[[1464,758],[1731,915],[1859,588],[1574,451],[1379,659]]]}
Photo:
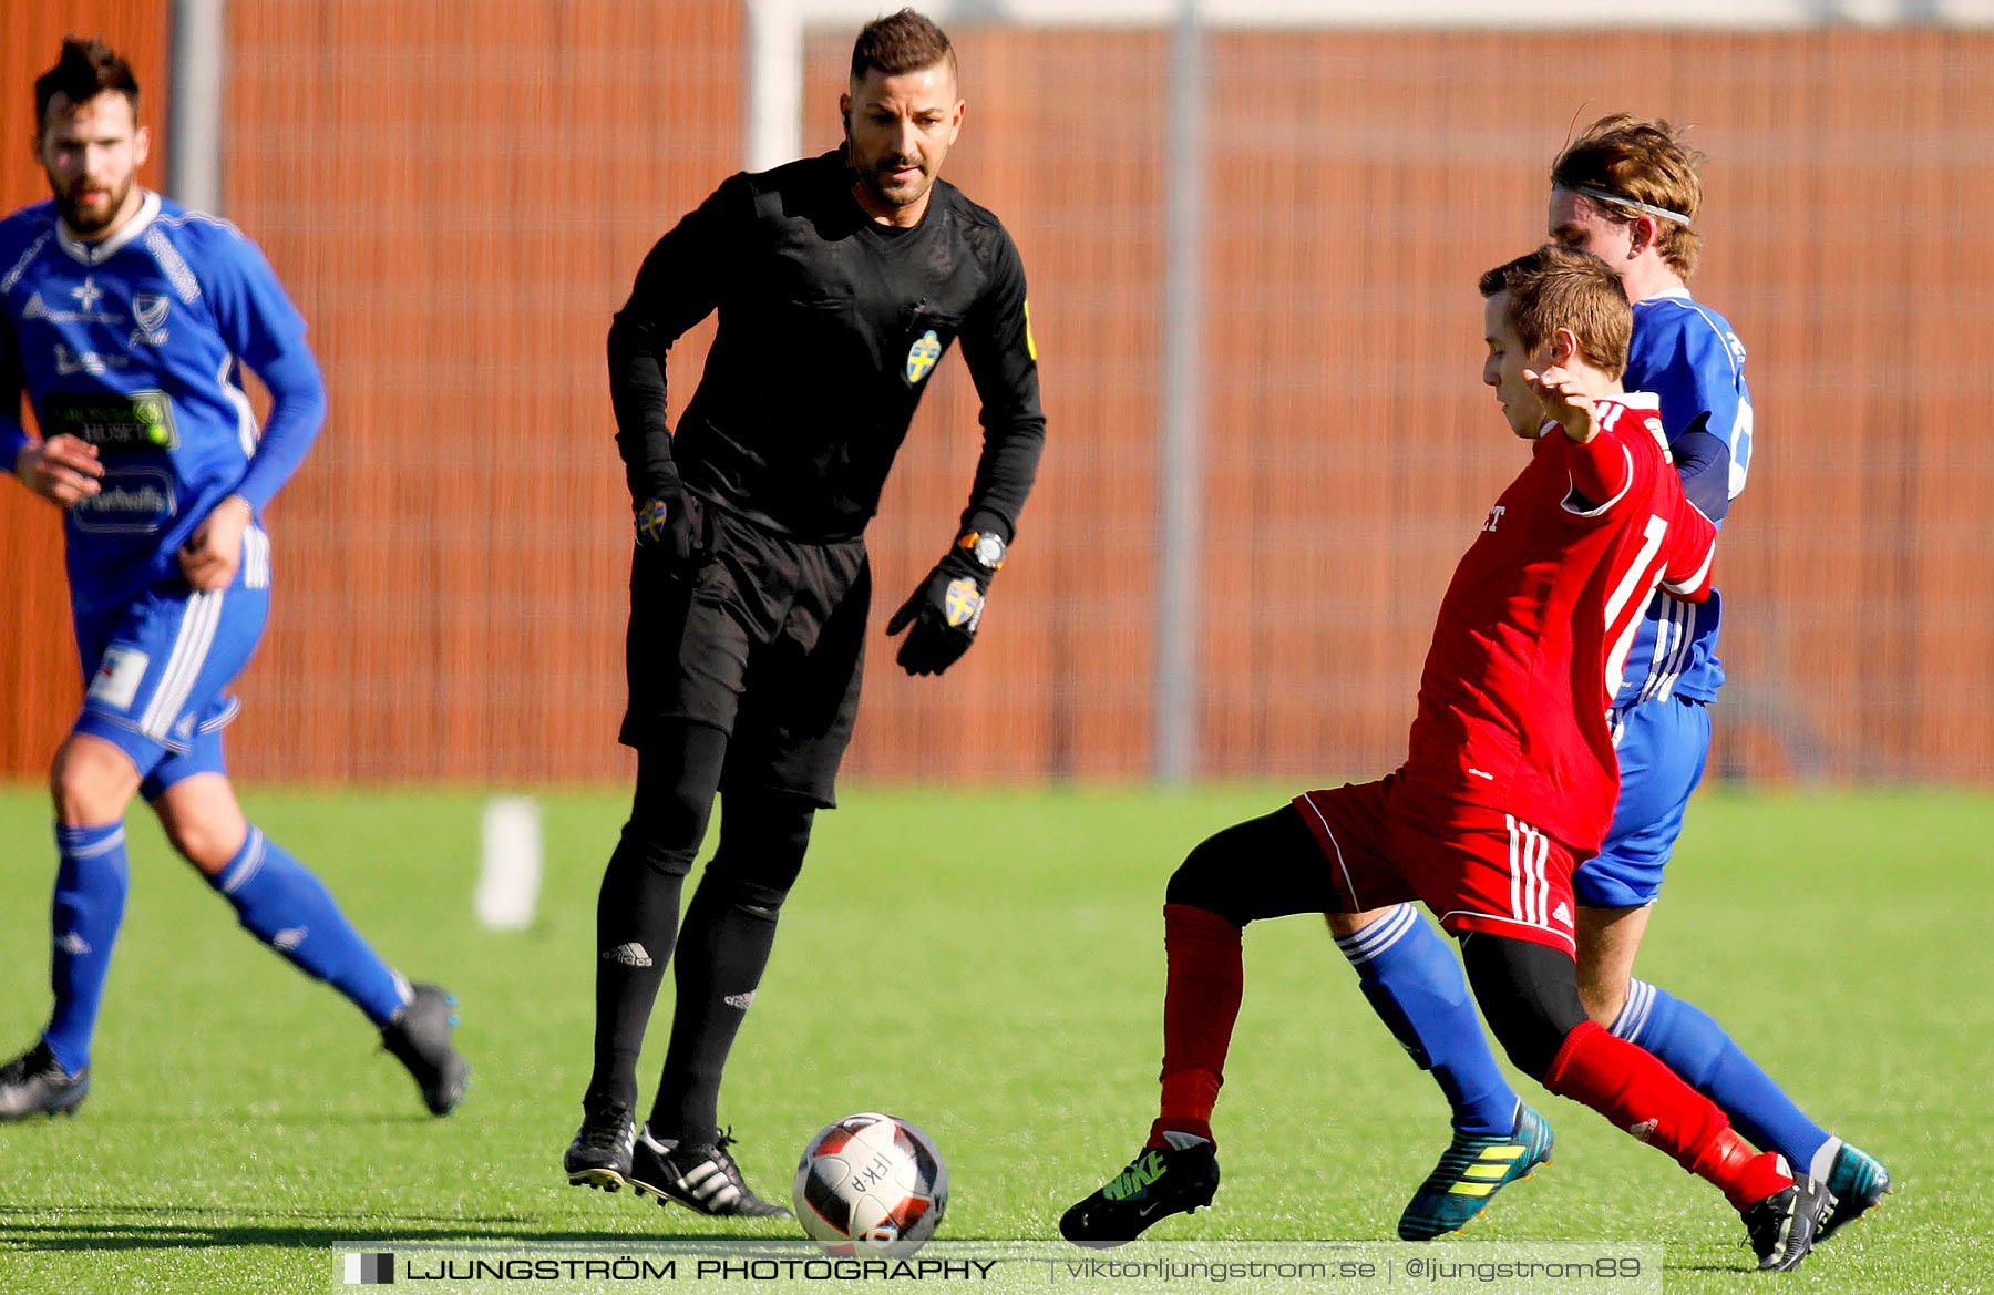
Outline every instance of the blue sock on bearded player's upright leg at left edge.
{"label": "blue sock on bearded player's upright leg at left edge", "polygon": [[132,870],[126,864],[124,822],[58,826],[56,850],[62,866],[56,870],[48,972],[56,1010],[42,1038],[56,1064],[74,1076],[90,1066],[90,1036],[98,1028],[98,1004],[112,970]]}

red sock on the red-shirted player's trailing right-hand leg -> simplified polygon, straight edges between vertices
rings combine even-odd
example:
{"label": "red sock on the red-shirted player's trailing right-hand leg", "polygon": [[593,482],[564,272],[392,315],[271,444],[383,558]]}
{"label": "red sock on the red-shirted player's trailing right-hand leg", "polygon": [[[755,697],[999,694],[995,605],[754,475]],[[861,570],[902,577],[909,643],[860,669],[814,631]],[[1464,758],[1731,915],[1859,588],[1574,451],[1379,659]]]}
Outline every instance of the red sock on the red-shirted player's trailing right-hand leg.
{"label": "red sock on the red-shirted player's trailing right-hand leg", "polygon": [[1785,1161],[1771,1151],[1755,1153],[1709,1097],[1651,1054],[1593,1022],[1565,1036],[1543,1085],[1661,1147],[1675,1163],[1723,1191],[1737,1209],[1793,1185]]}

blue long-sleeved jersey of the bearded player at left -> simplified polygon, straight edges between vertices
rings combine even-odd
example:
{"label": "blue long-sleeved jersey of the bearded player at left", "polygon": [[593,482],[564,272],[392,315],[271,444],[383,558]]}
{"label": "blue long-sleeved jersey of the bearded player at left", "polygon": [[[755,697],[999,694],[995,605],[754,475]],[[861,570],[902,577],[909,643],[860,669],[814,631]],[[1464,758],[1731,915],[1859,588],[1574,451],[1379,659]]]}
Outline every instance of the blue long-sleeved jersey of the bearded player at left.
{"label": "blue long-sleeved jersey of the bearded player at left", "polygon": [[[0,221],[0,349],[42,435],[96,445],[104,467],[66,517],[80,619],[177,581],[175,551],[227,495],[261,527],[325,419],[305,321],[257,245],[150,192],[96,243],[52,202]],[[267,435],[237,365],[271,391]],[[26,441],[16,413],[0,409],[6,467]]]}

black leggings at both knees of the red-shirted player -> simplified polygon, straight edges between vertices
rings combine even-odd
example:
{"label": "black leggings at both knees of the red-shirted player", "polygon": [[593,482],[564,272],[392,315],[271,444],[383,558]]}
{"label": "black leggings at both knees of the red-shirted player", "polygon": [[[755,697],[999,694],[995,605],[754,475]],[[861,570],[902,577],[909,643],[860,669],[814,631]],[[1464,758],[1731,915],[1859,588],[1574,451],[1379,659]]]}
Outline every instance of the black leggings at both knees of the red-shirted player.
{"label": "black leggings at both knees of the red-shirted player", "polygon": [[[1234,926],[1350,908],[1294,806],[1206,838],[1170,874],[1164,902],[1202,908]],[[1462,940],[1462,964],[1509,1062],[1543,1079],[1565,1036],[1585,1020],[1577,964],[1561,950],[1486,932]]]}

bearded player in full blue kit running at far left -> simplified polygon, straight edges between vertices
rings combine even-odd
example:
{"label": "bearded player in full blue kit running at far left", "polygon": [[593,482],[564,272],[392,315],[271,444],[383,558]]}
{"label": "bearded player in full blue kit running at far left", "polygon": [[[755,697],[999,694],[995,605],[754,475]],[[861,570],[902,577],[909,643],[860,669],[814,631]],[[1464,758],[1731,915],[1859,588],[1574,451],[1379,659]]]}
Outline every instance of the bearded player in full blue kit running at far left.
{"label": "bearded player in full blue kit running at far left", "polygon": [[[66,513],[88,690],[50,776],[56,1006],[0,1068],[0,1119],[74,1111],[90,1093],[134,794],[251,934],[367,1014],[443,1115],[467,1078],[455,1000],[393,972],[243,818],[221,758],[237,710],[225,690],[269,615],[263,505],[325,419],[305,321],[239,229],[134,184],[150,138],[116,52],[66,40],[34,110],[54,200],[0,221],[0,463]],[[271,393],[261,435],[237,365]],[[22,393],[40,441],[16,419]]]}

